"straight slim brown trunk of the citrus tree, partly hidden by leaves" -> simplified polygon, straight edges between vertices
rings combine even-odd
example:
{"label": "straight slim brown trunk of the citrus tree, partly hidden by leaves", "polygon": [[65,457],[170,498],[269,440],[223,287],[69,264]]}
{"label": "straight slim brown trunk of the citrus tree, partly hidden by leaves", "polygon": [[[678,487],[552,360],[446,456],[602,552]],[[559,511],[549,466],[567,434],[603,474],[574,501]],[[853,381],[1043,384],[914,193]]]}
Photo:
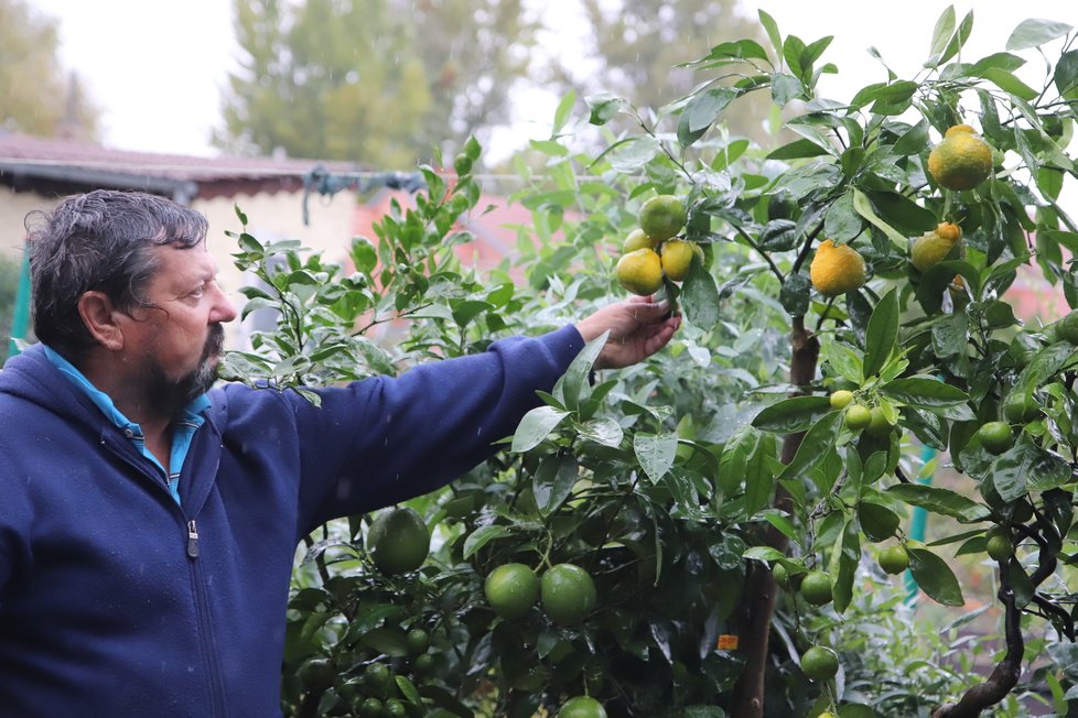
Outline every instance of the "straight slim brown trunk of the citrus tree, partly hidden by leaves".
{"label": "straight slim brown trunk of the citrus tree, partly hidden by leaves", "polygon": [[[820,342],[805,328],[805,317],[794,317],[790,344],[793,345],[790,383],[796,388],[791,395],[804,394],[801,388],[816,378],[816,366],[820,357]],[[804,437],[805,434],[790,434],[786,437],[783,442],[783,464],[793,460]],[[779,511],[791,513],[790,496],[781,486],[775,490],[774,507]],[[769,524],[764,542],[783,553],[786,553],[789,543],[783,532]],[[775,613],[775,579],[772,572],[759,562],[748,563],[742,609],[744,622],[739,633],[739,646],[745,657],[745,667],[734,686],[731,715],[737,718],[763,718],[767,643],[772,617]]]}

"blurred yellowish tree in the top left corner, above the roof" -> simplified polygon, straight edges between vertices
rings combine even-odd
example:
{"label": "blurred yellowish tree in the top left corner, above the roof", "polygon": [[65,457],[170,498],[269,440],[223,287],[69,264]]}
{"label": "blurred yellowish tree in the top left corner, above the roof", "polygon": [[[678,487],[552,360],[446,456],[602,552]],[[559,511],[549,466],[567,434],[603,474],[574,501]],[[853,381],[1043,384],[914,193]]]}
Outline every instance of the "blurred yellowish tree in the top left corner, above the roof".
{"label": "blurred yellowish tree in the top left corner, above the roof", "polygon": [[61,65],[56,28],[23,0],[0,0],[0,128],[96,139],[99,112]]}

